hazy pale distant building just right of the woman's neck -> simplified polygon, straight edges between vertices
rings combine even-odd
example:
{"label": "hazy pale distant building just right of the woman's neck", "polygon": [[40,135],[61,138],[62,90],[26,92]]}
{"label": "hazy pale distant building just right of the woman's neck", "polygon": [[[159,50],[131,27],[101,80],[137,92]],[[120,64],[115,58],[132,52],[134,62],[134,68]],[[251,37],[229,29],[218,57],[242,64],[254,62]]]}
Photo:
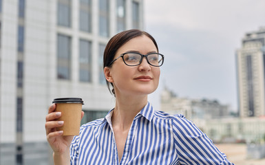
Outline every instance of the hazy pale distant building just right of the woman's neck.
{"label": "hazy pale distant building just right of the woman's neck", "polygon": [[180,98],[165,88],[161,95],[161,110],[167,113],[181,113],[189,120],[224,118],[229,115],[229,106],[218,100]]}

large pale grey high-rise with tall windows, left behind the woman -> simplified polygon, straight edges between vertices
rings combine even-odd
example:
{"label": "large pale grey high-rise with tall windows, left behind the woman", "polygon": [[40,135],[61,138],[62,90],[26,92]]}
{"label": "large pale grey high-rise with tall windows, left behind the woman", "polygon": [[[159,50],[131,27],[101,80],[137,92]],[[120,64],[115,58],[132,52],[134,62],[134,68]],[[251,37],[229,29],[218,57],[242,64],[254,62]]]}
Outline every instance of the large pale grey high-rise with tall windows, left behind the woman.
{"label": "large pale grey high-rise with tall windows, left behind the woman", "polygon": [[82,122],[113,107],[103,52],[131,28],[143,28],[142,0],[0,0],[0,164],[50,164],[54,98],[83,98]]}

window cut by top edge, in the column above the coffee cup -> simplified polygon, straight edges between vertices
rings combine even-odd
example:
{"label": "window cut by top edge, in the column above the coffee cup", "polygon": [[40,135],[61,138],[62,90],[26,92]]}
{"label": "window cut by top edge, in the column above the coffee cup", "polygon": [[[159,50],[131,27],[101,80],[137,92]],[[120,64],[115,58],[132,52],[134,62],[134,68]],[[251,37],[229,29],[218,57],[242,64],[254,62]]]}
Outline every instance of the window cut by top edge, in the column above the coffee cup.
{"label": "window cut by top edge, in the column above the coffee cup", "polygon": [[58,25],[70,27],[71,25],[71,1],[58,0],[57,3],[57,23]]}

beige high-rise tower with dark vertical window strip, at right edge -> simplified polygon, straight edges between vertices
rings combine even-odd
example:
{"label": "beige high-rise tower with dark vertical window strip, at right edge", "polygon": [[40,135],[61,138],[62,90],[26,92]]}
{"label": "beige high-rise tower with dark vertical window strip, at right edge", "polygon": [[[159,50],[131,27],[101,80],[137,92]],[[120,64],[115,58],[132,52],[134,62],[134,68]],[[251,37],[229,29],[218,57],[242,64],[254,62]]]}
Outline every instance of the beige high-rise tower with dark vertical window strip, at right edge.
{"label": "beige high-rise tower with dark vertical window strip, at right edge", "polygon": [[240,117],[265,115],[265,28],[246,33],[236,62]]}

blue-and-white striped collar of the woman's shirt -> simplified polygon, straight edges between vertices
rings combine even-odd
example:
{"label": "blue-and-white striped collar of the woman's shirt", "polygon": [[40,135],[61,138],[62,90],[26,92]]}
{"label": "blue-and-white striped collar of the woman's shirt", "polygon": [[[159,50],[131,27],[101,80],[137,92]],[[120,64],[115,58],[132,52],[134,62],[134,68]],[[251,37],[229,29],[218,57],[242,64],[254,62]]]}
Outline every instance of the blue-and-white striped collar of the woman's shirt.
{"label": "blue-and-white striped collar of the woman's shirt", "polygon": [[[107,115],[105,116],[105,120],[107,120],[107,122],[109,124],[112,125],[112,113],[113,110],[110,110],[109,113],[107,113]],[[153,106],[150,104],[150,102],[147,102],[147,104],[145,105],[145,107],[142,108],[142,110],[136,115],[136,118],[140,118],[140,116],[145,117],[147,120],[151,121],[153,118],[153,114],[155,113]]]}

